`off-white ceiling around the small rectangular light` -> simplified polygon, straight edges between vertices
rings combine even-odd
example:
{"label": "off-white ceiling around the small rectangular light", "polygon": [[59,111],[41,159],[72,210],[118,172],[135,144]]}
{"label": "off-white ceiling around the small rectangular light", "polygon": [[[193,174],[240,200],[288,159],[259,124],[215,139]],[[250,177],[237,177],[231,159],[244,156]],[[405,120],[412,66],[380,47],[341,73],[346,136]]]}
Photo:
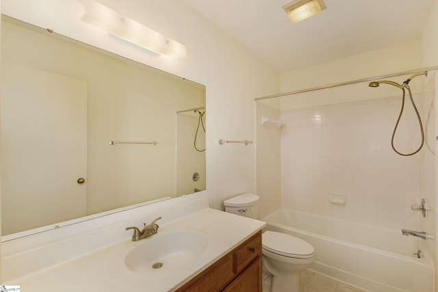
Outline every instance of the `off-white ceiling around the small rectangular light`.
{"label": "off-white ceiling around the small rectangular light", "polygon": [[292,0],[184,0],[279,72],[421,38],[437,0],[324,0],[326,10],[291,23]]}

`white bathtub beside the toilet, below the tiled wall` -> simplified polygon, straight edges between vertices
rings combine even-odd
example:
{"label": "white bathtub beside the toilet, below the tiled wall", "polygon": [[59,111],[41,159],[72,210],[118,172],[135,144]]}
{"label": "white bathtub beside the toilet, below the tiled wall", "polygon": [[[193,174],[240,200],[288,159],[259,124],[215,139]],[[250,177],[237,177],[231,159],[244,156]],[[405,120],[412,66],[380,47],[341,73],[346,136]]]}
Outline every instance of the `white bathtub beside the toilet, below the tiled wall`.
{"label": "white bathtub beside the toilet, below the tiled wall", "polygon": [[434,267],[421,241],[399,230],[330,217],[279,210],[264,218],[267,230],[311,243],[315,263],[309,269],[372,292],[433,292]]}

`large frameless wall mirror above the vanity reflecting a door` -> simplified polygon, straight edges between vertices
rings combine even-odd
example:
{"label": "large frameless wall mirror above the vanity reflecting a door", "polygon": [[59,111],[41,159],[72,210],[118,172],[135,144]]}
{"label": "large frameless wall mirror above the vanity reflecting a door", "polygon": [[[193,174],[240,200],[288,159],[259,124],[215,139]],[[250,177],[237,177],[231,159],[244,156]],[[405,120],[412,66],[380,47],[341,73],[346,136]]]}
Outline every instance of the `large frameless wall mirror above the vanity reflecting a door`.
{"label": "large frameless wall mirror above the vanity reflecting a door", "polygon": [[205,189],[205,86],[8,16],[1,53],[2,240]]}

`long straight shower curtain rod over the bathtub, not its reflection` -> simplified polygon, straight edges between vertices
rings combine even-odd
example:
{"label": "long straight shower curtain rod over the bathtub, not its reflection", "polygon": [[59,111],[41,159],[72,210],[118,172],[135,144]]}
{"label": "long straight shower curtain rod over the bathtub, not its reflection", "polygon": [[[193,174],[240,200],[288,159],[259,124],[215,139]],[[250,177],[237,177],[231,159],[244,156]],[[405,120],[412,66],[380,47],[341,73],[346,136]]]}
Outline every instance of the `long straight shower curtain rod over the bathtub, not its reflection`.
{"label": "long straight shower curtain rod over the bathtub, not its reflection", "polygon": [[330,85],[322,85],[322,86],[318,86],[315,88],[306,88],[306,89],[302,89],[302,90],[295,90],[295,91],[291,91],[291,92],[273,94],[273,95],[268,95],[268,96],[261,96],[261,97],[255,98],[254,100],[255,101],[262,101],[263,99],[282,97],[282,96],[293,95],[293,94],[304,93],[304,92],[311,92],[311,91],[322,90],[322,89],[327,89],[327,88],[336,88],[336,87],[344,86],[344,85],[350,85],[350,84],[356,84],[356,83],[362,83],[362,82],[370,82],[370,81],[374,81],[374,80],[378,80],[378,79],[396,77],[396,76],[401,76],[401,75],[409,75],[409,74],[415,74],[418,72],[432,71],[432,70],[438,70],[438,66],[422,68],[422,69],[417,69],[417,70],[409,70],[409,71],[404,71],[404,72],[398,72],[398,73],[393,73],[393,74],[389,74],[389,75],[382,75],[382,76],[378,76],[378,77],[352,80],[352,81],[335,83],[335,84],[330,84]]}

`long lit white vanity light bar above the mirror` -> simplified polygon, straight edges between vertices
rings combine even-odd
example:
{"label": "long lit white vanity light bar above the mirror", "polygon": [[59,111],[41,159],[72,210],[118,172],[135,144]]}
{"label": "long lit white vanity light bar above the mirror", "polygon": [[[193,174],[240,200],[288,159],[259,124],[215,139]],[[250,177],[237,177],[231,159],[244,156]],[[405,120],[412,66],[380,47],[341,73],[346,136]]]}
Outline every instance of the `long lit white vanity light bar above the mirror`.
{"label": "long lit white vanity light bar above the mirror", "polygon": [[172,40],[98,1],[81,0],[81,2],[85,5],[85,14],[81,18],[82,21],[95,25],[118,38],[127,40],[154,53],[167,55],[178,60],[187,56],[185,45],[176,40]]}

